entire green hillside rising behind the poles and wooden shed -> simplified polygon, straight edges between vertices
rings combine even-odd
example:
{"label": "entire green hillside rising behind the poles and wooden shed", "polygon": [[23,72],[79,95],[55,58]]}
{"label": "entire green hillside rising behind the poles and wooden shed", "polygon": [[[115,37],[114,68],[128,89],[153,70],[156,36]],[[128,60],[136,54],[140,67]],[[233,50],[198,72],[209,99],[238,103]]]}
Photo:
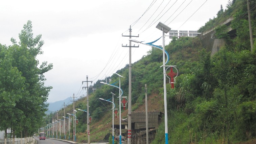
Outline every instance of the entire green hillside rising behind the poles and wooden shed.
{"label": "entire green hillside rising behind the poles and wooden shed", "polygon": [[[233,2],[233,3],[232,3]],[[227,10],[218,12],[215,21],[233,16],[231,27],[236,37],[230,37],[225,27],[218,27],[216,38],[224,38],[226,45],[214,55],[202,46],[198,37],[173,39],[166,50],[170,55],[167,65],[177,65],[179,75],[175,88],[167,83],[168,136],[170,143],[237,143],[256,137],[256,2],[251,1],[251,23],[254,49],[250,47],[246,0],[232,1]],[[232,10],[231,10],[232,9]],[[209,21],[201,30],[214,26]],[[209,27],[210,28],[210,27]],[[132,67],[132,110],[144,104],[144,85],[147,84],[149,103],[155,102],[163,111],[162,51],[152,48]],[[121,78],[123,96],[128,96],[128,66],[117,71]],[[119,80],[117,75],[110,77]],[[101,80],[104,81],[104,80]],[[110,99],[119,93],[113,86],[94,83],[98,89],[89,96],[91,142],[102,140],[112,124],[112,105],[98,98]],[[115,98],[118,101],[118,98]],[[79,109],[87,109],[86,99],[75,103]],[[73,106],[66,108],[71,112]],[[64,114],[63,110],[60,115]],[[85,142],[86,113],[77,113],[77,141]],[[127,118],[127,110],[122,111]],[[164,122],[159,125],[153,144],[164,143]]]}

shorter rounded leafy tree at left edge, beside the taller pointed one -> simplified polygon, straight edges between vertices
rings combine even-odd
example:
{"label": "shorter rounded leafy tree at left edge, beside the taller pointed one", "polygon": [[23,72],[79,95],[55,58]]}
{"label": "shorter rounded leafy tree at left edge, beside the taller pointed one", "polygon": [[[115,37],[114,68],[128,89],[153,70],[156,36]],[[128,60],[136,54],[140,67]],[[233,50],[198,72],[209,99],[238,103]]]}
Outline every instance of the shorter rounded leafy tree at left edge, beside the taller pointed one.
{"label": "shorter rounded leafy tree at left edge, beside the taller pointed one", "polygon": [[26,95],[25,78],[17,67],[12,66],[13,57],[6,46],[0,44],[0,128],[6,130],[15,123],[22,112],[15,109],[17,103]]}

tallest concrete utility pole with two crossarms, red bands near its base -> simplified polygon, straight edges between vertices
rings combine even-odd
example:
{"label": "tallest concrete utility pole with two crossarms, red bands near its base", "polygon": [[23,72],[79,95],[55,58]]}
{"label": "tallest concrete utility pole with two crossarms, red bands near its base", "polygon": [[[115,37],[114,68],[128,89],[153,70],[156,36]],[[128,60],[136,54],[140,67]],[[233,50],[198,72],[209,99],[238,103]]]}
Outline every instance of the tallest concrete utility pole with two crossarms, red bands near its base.
{"label": "tallest concrete utility pole with two crossarms, red bands near its base", "polygon": [[[125,36],[129,37],[130,39],[132,37],[139,37],[138,36],[132,36],[132,28],[130,26],[129,29],[130,35]],[[122,36],[124,36],[122,34]],[[128,144],[132,143],[132,47],[139,47],[139,46],[132,46],[132,42],[129,41],[129,46],[123,46],[122,47],[129,47],[129,92],[128,92]],[[121,112],[121,111],[120,111]]]}

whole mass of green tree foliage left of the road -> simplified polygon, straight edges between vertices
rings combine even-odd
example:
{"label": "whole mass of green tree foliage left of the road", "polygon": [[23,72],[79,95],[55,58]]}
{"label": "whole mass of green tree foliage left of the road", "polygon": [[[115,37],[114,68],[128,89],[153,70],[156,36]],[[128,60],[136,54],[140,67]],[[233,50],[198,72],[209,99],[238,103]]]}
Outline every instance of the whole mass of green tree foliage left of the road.
{"label": "whole mass of green tree foliage left of the road", "polygon": [[0,44],[0,128],[12,128],[19,136],[31,136],[42,123],[45,103],[51,86],[44,86],[44,73],[52,64],[39,66],[37,55],[42,54],[41,35],[33,38],[32,24],[27,22],[19,34],[20,42],[11,38],[13,45]]}

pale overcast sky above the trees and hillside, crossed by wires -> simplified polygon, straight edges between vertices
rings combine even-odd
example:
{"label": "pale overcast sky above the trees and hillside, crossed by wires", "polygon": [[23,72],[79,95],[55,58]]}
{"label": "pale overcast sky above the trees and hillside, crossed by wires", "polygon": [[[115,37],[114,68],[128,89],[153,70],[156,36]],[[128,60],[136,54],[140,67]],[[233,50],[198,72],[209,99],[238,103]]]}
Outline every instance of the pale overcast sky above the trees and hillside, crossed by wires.
{"label": "pale overcast sky above the trees and hillside, crossed by wires", "polygon": [[[122,37],[122,33],[129,35],[130,25],[132,35],[139,34],[134,39],[151,42],[162,36],[156,28],[159,22],[172,30],[198,30],[216,17],[220,5],[225,9],[227,3],[228,0],[1,1],[0,43],[11,45],[11,37],[19,41],[18,34],[30,20],[34,37],[42,34],[45,42],[44,53],[37,59],[40,64],[53,64],[53,69],[45,73],[45,85],[53,87],[48,102],[73,94],[79,98],[86,94],[82,91],[86,75],[94,83],[129,64],[129,48],[121,44],[129,45],[129,37]],[[166,37],[165,44],[169,42]],[[155,44],[162,45],[162,40]],[[132,48],[132,63],[150,49],[146,45]]]}

